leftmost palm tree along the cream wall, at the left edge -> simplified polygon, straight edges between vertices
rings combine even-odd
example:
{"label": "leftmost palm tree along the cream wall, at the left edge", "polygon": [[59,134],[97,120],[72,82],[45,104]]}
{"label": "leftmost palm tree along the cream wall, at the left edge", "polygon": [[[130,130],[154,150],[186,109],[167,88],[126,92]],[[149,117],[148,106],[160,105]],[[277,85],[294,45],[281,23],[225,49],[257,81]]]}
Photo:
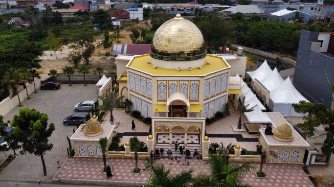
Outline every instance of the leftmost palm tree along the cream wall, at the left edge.
{"label": "leftmost palm tree along the cream wall, at the left edge", "polygon": [[[22,74],[19,71],[17,71],[16,68],[13,67],[9,68],[4,75],[4,82],[7,82],[8,89],[10,89],[11,86],[14,86],[14,88],[17,90],[19,83],[22,82],[22,80],[23,80]],[[17,93],[17,99],[18,99],[18,106],[22,106],[20,101],[20,96],[18,93]]]}

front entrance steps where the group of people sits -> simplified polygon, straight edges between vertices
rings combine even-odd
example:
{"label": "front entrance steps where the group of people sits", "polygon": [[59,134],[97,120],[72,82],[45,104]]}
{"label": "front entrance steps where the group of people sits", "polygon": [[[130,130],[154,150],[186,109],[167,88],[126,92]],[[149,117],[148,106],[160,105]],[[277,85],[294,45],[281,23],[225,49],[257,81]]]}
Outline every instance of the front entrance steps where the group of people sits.
{"label": "front entrance steps where the group of people sits", "polygon": [[[163,148],[164,149],[164,156],[167,156],[168,148],[171,148],[172,149],[172,156],[181,157],[180,150],[179,150],[180,146],[183,146],[183,144],[179,145],[179,147],[177,147],[177,150],[175,151],[174,144],[171,145],[171,146],[169,144],[155,144],[154,145],[154,150],[158,149],[160,151],[160,149]],[[202,155],[202,147],[199,144],[188,144],[184,151],[186,151],[187,149],[190,151],[191,157],[193,156],[195,149],[197,149],[197,152]]]}

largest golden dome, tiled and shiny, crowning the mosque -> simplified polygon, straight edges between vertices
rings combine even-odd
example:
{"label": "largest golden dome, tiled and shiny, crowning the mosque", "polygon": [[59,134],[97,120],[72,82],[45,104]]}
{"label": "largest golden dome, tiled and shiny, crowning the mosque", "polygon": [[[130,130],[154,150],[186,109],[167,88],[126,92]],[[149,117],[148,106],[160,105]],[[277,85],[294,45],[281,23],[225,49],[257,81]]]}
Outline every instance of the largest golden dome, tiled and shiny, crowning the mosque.
{"label": "largest golden dome, tiled and shiny, crowning the mosque", "polygon": [[[204,38],[199,29],[180,14],[166,21],[155,32],[150,55],[153,58],[170,61],[186,61],[204,58]],[[168,57],[192,57],[168,58]]]}

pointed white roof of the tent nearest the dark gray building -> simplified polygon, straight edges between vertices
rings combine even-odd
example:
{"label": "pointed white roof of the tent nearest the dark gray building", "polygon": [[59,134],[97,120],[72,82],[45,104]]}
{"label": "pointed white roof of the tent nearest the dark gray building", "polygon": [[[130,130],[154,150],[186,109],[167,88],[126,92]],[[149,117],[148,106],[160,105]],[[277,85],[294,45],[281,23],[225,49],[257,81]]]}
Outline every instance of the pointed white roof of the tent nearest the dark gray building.
{"label": "pointed white roof of the tent nearest the dark gray building", "polygon": [[286,80],[276,89],[271,91],[270,99],[274,103],[299,103],[299,101],[306,101],[305,99],[292,84],[290,77],[287,77]]}

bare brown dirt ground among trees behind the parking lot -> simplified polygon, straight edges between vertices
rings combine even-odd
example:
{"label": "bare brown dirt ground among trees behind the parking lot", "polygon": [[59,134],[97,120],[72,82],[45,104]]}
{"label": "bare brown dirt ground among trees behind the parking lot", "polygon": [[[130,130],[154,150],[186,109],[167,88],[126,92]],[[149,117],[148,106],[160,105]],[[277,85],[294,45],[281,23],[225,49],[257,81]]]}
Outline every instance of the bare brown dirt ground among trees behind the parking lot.
{"label": "bare brown dirt ground among trees behind the parking lot", "polygon": [[[147,21],[140,21],[137,23],[126,24],[127,26],[120,31],[121,34],[121,43],[122,44],[129,44],[131,43],[131,39],[129,35],[131,34],[130,29],[133,26],[142,27],[142,28],[149,28],[147,25]],[[113,34],[113,31],[110,31],[109,34]],[[106,50],[103,46],[97,47],[97,44],[103,40],[103,35],[96,37],[95,44],[95,51],[93,56],[90,59],[90,72],[93,74],[93,70],[97,67],[103,67],[105,73],[116,72],[116,65],[115,65],[115,57],[113,56],[105,56]],[[111,46],[107,51],[109,54],[113,52],[113,47]],[[54,52],[44,51],[43,55],[39,57],[41,60],[40,65],[41,68],[38,69],[38,72],[41,74],[48,74],[50,69],[56,69],[58,73],[62,73],[62,68],[65,66],[72,66],[66,58],[69,55],[71,49],[68,48],[68,45],[63,45],[61,51],[57,52],[57,58]]]}

